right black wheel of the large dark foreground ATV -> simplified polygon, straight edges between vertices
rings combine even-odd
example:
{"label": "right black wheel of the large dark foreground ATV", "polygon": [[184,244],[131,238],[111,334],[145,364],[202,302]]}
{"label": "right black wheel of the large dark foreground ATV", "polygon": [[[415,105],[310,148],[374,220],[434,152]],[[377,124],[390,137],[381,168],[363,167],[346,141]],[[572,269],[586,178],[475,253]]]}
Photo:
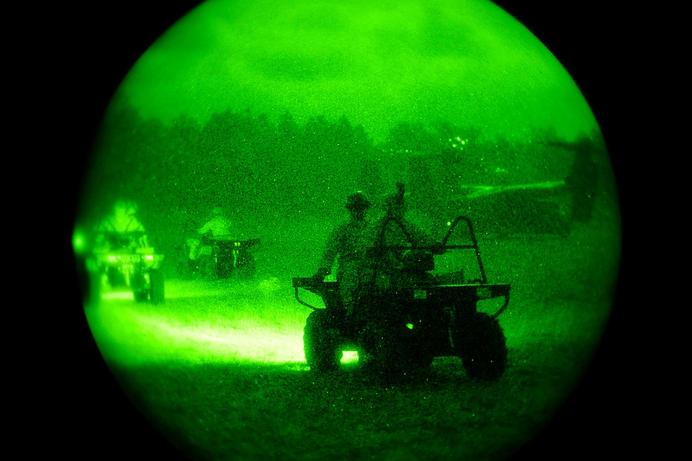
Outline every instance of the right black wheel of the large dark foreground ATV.
{"label": "right black wheel of the large dark foreground ATV", "polygon": [[455,355],[462,359],[469,377],[497,381],[507,367],[507,338],[497,318],[474,312],[455,321],[451,328]]}

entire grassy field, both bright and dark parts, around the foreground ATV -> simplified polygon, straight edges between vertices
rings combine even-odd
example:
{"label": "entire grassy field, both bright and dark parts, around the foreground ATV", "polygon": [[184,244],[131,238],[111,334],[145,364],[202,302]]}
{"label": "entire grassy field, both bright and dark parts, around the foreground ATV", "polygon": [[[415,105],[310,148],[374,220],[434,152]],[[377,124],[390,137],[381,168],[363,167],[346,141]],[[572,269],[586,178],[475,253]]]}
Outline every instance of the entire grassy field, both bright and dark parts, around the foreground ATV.
{"label": "entire grassy field, both bright and dark parts, around the foreground ATV", "polygon": [[131,400],[191,458],[498,460],[549,422],[598,345],[614,275],[593,241],[484,239],[489,280],[512,283],[497,383],[455,358],[397,381],[357,363],[309,372],[309,309],[288,279],[172,282],[163,306],[111,300],[87,317]]}

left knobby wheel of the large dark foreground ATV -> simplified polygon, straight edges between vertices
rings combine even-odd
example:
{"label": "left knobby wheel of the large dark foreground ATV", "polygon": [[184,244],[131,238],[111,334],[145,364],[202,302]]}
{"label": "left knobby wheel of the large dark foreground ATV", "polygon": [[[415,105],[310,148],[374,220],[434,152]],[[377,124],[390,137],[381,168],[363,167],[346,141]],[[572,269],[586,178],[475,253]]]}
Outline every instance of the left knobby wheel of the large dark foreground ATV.
{"label": "left knobby wheel of the large dark foreground ATV", "polygon": [[312,311],[307,317],[303,331],[303,350],[310,370],[334,371],[341,365],[339,333],[330,326],[327,309]]}

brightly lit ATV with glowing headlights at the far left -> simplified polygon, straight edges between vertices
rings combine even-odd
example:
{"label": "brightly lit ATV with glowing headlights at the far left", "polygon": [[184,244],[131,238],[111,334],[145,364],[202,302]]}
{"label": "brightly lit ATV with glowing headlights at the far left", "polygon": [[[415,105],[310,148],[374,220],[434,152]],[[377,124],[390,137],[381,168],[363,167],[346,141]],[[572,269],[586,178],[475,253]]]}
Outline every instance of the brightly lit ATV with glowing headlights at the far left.
{"label": "brightly lit ATV with glowing headlights at the far left", "polygon": [[102,286],[129,287],[137,302],[161,304],[165,300],[163,255],[154,248],[133,244],[146,242],[144,233],[104,233],[106,248],[96,249],[94,257]]}

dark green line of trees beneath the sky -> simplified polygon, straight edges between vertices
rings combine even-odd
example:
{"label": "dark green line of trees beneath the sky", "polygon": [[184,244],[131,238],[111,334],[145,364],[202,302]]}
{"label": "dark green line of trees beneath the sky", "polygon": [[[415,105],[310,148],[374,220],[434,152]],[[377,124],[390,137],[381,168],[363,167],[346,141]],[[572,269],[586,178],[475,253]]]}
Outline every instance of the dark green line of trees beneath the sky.
{"label": "dark green line of trees beneath the sky", "polygon": [[593,177],[603,153],[598,136],[488,140],[473,127],[400,123],[375,144],[345,118],[301,125],[290,114],[273,121],[227,111],[203,125],[187,117],[164,125],[121,107],[104,121],[84,195],[98,213],[118,198],[134,199],[157,222],[199,222],[212,206],[239,219],[332,221],[354,190],[376,199],[403,181],[413,208],[444,214],[470,185],[571,178],[574,186],[582,175],[574,169]]}

